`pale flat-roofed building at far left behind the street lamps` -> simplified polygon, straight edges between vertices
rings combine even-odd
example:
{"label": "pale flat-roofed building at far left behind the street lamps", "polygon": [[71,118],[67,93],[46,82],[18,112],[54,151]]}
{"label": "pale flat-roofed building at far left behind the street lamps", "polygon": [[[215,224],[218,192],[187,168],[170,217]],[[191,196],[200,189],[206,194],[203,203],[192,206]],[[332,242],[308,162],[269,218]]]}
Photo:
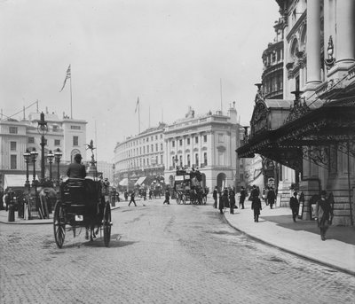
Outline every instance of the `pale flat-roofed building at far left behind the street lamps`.
{"label": "pale flat-roofed building at far left behind the street lamps", "polygon": [[[76,153],[86,160],[86,121],[64,117],[59,119],[55,113],[45,113],[47,133],[45,134],[45,176],[49,176],[49,163],[46,156],[57,148],[62,152],[59,165],[60,175],[65,175],[67,164],[74,160]],[[39,174],[41,170],[41,135],[38,133],[40,113],[29,113],[28,119],[0,120],[0,185],[4,187],[4,175],[25,175],[26,162],[23,153],[28,149],[36,149],[39,153],[35,166]],[[31,167],[33,164],[30,165]],[[32,168],[30,170],[32,172]],[[57,175],[58,167],[52,165],[53,176]],[[25,180],[24,180],[25,182]]]}

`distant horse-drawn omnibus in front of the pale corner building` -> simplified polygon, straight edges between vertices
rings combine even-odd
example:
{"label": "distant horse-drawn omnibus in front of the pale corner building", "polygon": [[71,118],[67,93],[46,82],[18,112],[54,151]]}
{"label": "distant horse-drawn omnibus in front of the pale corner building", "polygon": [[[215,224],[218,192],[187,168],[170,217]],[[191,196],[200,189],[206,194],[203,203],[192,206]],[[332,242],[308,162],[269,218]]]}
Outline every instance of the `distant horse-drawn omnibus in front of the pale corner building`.
{"label": "distant horse-drawn omnibus in front of the pale corner building", "polygon": [[177,170],[174,191],[177,204],[185,205],[188,201],[193,205],[206,204],[208,191],[201,186],[201,173],[199,171]]}

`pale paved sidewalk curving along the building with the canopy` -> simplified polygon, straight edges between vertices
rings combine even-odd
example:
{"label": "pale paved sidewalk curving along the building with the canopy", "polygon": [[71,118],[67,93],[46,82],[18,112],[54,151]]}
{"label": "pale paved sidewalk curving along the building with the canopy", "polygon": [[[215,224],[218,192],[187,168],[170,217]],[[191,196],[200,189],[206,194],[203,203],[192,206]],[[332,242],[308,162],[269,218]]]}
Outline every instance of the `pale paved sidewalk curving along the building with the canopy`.
{"label": "pale paved sidewalk curving along the building with the canopy", "polygon": [[259,222],[254,222],[250,206],[251,202],[246,201],[245,209],[234,209],[234,214],[226,208],[226,221],[236,230],[271,246],[355,275],[354,227],[330,226],[327,240],[322,241],[316,222],[293,222],[288,207],[270,209],[263,203]]}

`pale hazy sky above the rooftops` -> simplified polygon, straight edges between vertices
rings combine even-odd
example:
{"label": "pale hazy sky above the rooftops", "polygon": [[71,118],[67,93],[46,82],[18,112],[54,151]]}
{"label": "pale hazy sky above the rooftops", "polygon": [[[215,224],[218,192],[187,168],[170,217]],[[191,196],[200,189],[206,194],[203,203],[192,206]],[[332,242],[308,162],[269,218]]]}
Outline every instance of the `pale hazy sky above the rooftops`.
{"label": "pale hazy sky above the rooftops", "polygon": [[[189,106],[226,113],[235,101],[249,125],[279,17],[274,0],[0,0],[0,109],[38,100],[40,112],[88,121],[108,162],[117,142]],[[59,92],[69,65],[72,110],[69,80]]]}

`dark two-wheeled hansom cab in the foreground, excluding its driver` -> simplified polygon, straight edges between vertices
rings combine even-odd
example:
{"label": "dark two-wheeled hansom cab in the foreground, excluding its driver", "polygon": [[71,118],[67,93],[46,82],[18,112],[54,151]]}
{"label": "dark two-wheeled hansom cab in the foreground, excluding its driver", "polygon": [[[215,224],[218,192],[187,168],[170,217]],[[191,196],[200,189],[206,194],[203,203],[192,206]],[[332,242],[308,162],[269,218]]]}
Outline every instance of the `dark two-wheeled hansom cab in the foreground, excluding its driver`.
{"label": "dark two-wheeled hansom cab in the foreground, excluding its driver", "polygon": [[[70,178],[60,184],[59,199],[54,207],[54,238],[59,248],[63,246],[67,230],[85,228],[91,240],[103,231],[105,246],[111,238],[111,207],[105,200],[103,183],[90,178]],[[95,232],[96,230],[96,232]]]}

